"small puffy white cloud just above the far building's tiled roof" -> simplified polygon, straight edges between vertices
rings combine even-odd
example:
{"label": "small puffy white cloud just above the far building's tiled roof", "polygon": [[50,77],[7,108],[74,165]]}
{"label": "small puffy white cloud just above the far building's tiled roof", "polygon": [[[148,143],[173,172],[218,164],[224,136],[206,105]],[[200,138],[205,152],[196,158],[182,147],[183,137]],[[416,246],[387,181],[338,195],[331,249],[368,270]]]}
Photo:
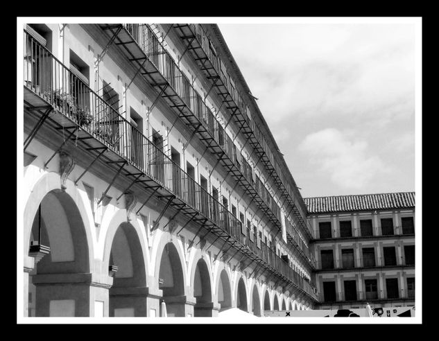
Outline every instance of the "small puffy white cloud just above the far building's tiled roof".
{"label": "small puffy white cloud just above the far building's tiled roof", "polygon": [[343,189],[367,189],[379,175],[390,173],[379,156],[368,153],[366,141],[350,141],[335,128],[308,134],[298,150],[309,158],[316,172],[327,173]]}

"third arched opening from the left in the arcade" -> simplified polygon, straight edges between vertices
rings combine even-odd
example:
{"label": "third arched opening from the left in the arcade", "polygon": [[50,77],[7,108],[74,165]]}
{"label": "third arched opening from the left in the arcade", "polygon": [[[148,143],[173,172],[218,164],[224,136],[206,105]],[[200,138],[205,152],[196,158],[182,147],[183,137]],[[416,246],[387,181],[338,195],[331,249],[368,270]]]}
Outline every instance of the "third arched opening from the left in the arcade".
{"label": "third arched opening from the left in the arcade", "polygon": [[173,243],[167,243],[162,251],[159,270],[159,289],[169,317],[184,317],[184,277],[182,263]]}

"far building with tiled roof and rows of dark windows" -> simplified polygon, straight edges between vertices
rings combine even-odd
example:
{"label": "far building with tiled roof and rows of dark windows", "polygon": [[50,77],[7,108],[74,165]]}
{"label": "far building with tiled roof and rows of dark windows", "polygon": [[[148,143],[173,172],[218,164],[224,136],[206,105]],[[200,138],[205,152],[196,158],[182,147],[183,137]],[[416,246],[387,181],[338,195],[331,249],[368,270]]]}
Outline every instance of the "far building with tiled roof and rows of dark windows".
{"label": "far building with tiled roof and rows of dark windows", "polygon": [[304,198],[320,308],[415,306],[415,193]]}

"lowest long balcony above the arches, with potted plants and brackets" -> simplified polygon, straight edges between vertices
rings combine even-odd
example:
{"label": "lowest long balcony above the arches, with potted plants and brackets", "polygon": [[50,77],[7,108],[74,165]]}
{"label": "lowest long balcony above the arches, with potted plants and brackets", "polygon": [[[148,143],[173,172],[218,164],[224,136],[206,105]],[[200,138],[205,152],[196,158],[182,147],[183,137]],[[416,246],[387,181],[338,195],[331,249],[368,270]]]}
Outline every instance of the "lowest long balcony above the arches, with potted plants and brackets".
{"label": "lowest long balcony above the arches, with potted plants and brackets", "polygon": [[[234,247],[253,264],[261,266],[267,276],[275,276],[280,283],[318,301],[311,286],[303,283],[297,272],[267,247],[255,247],[230,211],[26,30],[24,107],[25,119],[28,115],[38,120],[35,128],[44,124],[57,134],[65,134],[64,143],[75,134],[75,148],[104,159],[110,173],[126,176],[132,185],[144,184],[145,194],[156,195],[164,207],[171,206],[187,216],[193,225],[199,226],[198,231],[205,229],[221,238],[225,246]],[[34,131],[29,134],[25,146],[35,134]],[[102,151],[96,155],[96,150]]]}

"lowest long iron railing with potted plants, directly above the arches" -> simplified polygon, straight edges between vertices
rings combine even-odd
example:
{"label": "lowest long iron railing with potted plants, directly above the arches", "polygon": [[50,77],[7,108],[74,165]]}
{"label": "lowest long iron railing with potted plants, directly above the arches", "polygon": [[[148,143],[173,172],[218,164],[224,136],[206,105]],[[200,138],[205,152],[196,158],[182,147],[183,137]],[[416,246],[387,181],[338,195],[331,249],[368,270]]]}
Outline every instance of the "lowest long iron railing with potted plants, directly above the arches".
{"label": "lowest long iron railing with potted plants, directly above the arches", "polygon": [[90,89],[83,80],[55,58],[24,30],[24,87],[46,100],[53,109],[67,116],[80,129],[136,166],[157,184],[173,193],[189,207],[200,212],[214,225],[248,247],[276,272],[318,300],[313,288],[264,243],[243,234],[242,224],[193,178],[175,164],[117,108]]}

